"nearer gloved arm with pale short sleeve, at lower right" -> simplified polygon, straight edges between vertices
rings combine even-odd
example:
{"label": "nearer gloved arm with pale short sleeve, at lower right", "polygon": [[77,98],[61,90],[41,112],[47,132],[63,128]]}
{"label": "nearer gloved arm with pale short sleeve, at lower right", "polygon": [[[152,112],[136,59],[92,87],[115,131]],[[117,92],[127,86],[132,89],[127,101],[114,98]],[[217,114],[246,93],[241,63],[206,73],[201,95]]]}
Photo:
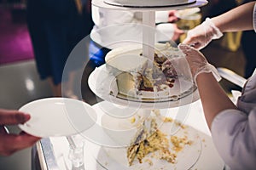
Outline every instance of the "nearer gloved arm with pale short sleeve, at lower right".
{"label": "nearer gloved arm with pale short sleeve, at lower right", "polygon": [[204,55],[188,45],[178,47],[186,54],[219,155],[231,169],[255,169],[256,75],[248,80],[236,107],[213,77],[215,71]]}

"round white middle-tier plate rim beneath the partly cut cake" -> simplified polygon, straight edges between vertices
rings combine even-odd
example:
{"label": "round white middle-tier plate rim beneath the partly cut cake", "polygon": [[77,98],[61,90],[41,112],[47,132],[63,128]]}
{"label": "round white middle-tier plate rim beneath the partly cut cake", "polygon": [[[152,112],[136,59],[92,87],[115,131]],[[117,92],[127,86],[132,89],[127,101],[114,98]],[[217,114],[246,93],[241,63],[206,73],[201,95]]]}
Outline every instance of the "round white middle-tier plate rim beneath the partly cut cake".
{"label": "round white middle-tier plate rim beneath the partly cut cake", "polygon": [[[107,100],[109,102],[113,102],[118,105],[129,105],[131,107],[136,107],[136,108],[166,109],[170,107],[187,105],[187,104],[193,103],[197,99],[200,99],[198,90],[194,86],[190,88],[186,88],[187,90],[183,91],[181,94],[177,94],[177,92],[180,91],[179,89],[172,88],[172,90],[174,89],[176,90],[176,91],[173,91],[173,94],[175,95],[170,96],[168,98],[137,99],[129,96],[124,96],[122,94],[118,94],[117,96],[114,96],[110,93],[109,86],[100,87],[102,83],[99,81],[103,81],[102,75],[103,73],[106,74],[106,71],[107,71],[105,67],[106,65],[102,65],[95,71],[92,71],[92,73],[90,74],[90,77],[88,78],[88,84],[94,94],[96,94],[98,97],[104,100]],[[98,72],[98,71],[101,71],[101,69],[102,69],[102,74]],[[185,83],[185,80],[181,78],[180,82]]]}

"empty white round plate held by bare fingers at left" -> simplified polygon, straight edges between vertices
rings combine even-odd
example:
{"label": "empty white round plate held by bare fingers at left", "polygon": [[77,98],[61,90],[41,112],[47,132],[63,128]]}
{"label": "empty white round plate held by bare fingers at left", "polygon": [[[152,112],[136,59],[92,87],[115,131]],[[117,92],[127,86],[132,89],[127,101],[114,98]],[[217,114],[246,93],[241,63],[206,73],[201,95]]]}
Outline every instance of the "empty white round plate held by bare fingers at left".
{"label": "empty white round plate held by bare fingers at left", "polygon": [[94,109],[76,99],[38,99],[22,106],[19,111],[31,115],[28,122],[19,125],[20,129],[42,138],[80,133],[96,122]]}

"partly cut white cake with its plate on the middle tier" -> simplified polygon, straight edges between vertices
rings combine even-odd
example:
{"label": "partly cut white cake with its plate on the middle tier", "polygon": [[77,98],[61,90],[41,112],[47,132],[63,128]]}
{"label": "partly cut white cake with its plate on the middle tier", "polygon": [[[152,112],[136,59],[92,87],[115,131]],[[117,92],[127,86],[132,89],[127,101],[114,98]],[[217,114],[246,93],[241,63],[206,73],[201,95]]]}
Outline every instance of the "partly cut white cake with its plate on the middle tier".
{"label": "partly cut white cake with its plate on the middle tier", "polygon": [[154,63],[142,52],[142,44],[110,51],[106,64],[90,74],[88,84],[92,92],[118,105],[145,109],[188,105],[199,99],[189,65],[177,48],[156,43]]}

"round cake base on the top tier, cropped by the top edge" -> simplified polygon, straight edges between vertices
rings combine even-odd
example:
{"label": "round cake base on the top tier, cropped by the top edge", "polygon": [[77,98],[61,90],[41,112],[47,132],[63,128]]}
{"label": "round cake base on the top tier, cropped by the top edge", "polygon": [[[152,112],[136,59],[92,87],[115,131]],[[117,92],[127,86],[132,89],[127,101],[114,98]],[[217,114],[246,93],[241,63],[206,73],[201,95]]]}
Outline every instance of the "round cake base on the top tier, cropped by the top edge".
{"label": "round cake base on the top tier, cropped by the top edge", "polygon": [[120,7],[172,7],[195,3],[196,0],[104,0],[104,3]]}

